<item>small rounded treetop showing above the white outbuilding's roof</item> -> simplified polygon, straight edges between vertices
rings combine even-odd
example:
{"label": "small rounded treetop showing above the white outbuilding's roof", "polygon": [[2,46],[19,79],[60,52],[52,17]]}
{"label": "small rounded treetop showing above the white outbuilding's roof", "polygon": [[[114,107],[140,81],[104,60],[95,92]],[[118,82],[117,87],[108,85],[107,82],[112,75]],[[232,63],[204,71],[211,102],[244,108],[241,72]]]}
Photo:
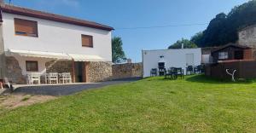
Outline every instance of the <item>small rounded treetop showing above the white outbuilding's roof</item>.
{"label": "small rounded treetop showing above the white outbuilding's roof", "polygon": [[176,43],[173,43],[171,46],[168,47],[168,49],[181,49],[183,44],[184,49],[189,49],[189,48],[197,48],[195,43],[189,41],[188,39],[181,39],[177,40]]}

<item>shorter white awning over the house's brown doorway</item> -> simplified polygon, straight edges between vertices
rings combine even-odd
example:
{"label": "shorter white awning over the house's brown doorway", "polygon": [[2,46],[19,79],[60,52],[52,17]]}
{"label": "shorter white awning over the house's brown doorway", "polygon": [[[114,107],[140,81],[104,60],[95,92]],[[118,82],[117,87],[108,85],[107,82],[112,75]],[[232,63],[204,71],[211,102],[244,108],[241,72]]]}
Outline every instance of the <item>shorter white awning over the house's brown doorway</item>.
{"label": "shorter white awning over the house's brown doorway", "polygon": [[73,58],[73,61],[104,61],[101,56],[98,55],[77,55],[68,54]]}

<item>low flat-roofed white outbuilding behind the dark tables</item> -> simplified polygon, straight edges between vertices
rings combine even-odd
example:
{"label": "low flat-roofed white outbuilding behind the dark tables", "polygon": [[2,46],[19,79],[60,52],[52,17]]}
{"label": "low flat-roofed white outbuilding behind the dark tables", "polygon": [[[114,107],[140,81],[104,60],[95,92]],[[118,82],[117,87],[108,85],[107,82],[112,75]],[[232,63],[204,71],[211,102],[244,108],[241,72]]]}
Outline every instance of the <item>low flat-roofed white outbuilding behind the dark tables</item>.
{"label": "low flat-roofed white outbuilding behind the dark tables", "polygon": [[166,68],[201,65],[201,49],[157,49],[143,50],[143,77],[149,77],[152,68],[158,68],[159,63],[165,63]]}

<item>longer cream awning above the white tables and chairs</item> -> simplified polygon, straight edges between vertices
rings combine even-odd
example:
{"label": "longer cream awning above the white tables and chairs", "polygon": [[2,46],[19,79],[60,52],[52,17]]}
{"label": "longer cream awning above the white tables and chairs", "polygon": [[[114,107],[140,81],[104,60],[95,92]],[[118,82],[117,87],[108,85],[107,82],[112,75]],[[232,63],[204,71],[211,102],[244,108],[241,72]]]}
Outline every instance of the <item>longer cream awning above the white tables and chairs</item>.
{"label": "longer cream awning above the white tables and chairs", "polygon": [[20,55],[20,56],[26,56],[26,57],[50,58],[50,59],[58,59],[58,60],[72,60],[72,58],[65,53],[9,49],[7,54]]}

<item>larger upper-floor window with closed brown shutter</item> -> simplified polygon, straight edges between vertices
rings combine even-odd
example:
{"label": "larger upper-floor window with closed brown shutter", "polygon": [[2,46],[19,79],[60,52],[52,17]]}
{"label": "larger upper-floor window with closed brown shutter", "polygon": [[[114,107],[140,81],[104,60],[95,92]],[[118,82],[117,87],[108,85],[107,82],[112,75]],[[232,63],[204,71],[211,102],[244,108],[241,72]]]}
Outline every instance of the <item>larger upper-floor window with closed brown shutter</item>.
{"label": "larger upper-floor window with closed brown shutter", "polygon": [[20,36],[38,37],[38,22],[15,18],[15,34]]}

